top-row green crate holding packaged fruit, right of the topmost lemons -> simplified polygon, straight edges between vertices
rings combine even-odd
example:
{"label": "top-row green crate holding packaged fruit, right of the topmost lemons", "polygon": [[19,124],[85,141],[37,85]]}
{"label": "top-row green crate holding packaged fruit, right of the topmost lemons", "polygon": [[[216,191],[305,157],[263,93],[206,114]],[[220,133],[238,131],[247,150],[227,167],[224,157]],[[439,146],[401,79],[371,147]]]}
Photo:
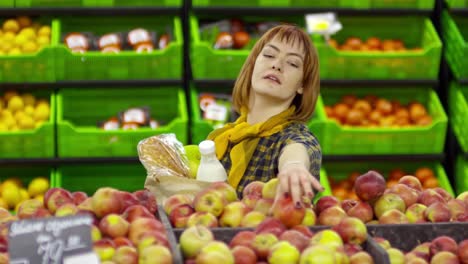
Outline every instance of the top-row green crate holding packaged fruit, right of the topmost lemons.
{"label": "top-row green crate holding packaged fruit, right of the topmost lemons", "polygon": [[[128,79],[180,79],[182,78],[182,27],[180,18],[168,16],[140,17],[63,17],[52,25],[58,45],[56,74],[58,80],[128,80]],[[103,35],[111,32],[128,32],[146,28],[162,33],[171,32],[172,41],[163,50],[151,53],[121,51],[103,54],[88,51],[72,53],[61,41],[68,32],[92,32]]]}

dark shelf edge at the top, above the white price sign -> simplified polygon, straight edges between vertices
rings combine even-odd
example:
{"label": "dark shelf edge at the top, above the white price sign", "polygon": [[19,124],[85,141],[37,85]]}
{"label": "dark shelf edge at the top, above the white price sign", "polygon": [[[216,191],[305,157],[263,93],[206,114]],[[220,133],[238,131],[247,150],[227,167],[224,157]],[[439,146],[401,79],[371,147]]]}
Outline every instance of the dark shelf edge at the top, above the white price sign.
{"label": "dark shelf edge at the top, above the white price sign", "polygon": [[354,9],[354,8],[317,8],[317,7],[192,7],[195,14],[209,15],[303,15],[309,13],[336,12],[339,15],[360,15],[360,16],[382,16],[382,15],[422,15],[429,16],[432,10],[421,9],[398,9],[398,8],[380,8],[380,9]]}

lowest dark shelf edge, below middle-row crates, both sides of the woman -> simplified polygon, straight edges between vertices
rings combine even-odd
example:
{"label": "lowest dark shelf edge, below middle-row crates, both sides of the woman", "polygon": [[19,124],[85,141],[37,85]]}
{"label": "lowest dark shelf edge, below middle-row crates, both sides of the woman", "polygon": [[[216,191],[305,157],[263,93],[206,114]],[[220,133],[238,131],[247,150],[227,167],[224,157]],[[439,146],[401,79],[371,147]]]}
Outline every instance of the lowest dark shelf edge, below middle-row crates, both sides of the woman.
{"label": "lowest dark shelf edge, below middle-row crates, both sides of the woman", "polygon": [[[412,155],[324,155],[324,161],[442,161],[444,154],[412,154]],[[82,157],[82,158],[6,158],[0,159],[0,165],[60,165],[89,163],[137,163],[138,157]]]}

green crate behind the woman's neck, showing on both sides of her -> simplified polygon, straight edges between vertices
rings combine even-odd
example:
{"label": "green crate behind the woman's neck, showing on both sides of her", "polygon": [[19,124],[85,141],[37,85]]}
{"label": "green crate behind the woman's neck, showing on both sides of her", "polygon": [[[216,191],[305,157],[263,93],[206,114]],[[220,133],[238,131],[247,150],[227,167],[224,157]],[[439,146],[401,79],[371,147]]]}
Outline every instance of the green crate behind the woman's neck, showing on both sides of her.
{"label": "green crate behind the woman's neck, showing on both sides of her", "polygon": [[[230,95],[231,90],[216,87],[216,88],[198,88],[195,86],[190,87],[190,100],[191,100],[191,112],[192,115],[192,142],[194,144],[198,144],[201,141],[205,140],[208,134],[213,131],[214,126],[209,121],[203,119],[200,103],[199,103],[199,95],[200,93],[223,93]],[[231,113],[232,117],[232,113]],[[324,130],[325,130],[325,119],[326,115],[323,110],[323,101],[322,97],[319,96],[317,99],[315,113],[312,115],[311,120],[308,121],[308,127],[310,131],[317,137],[319,142],[322,142],[322,138],[324,137]],[[230,122],[234,120],[231,119]]]}

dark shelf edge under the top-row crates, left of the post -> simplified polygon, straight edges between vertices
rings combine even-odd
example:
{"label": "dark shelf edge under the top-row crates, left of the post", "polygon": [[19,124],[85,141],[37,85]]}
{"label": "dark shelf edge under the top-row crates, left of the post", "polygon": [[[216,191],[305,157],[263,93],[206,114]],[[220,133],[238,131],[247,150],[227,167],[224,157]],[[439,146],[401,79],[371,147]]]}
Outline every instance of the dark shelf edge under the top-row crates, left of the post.
{"label": "dark shelf edge under the top-row crates, left of the post", "polygon": [[53,83],[0,83],[1,88],[10,89],[46,89],[46,88],[128,88],[129,86],[176,86],[182,85],[183,81],[179,79],[161,79],[161,80],[79,80],[79,81],[58,81]]}

